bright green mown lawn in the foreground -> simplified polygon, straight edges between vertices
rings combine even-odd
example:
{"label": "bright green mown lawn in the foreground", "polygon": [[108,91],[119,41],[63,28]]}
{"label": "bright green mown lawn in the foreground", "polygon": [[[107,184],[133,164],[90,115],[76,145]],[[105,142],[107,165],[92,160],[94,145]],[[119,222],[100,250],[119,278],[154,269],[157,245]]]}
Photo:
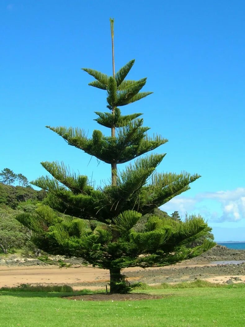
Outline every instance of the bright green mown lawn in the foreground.
{"label": "bright green mown lawn in the foreground", "polygon": [[[39,291],[0,291],[1,327],[237,327],[245,326],[245,285],[143,285],[138,293],[162,294],[159,300],[74,301],[69,287]],[[66,292],[66,293],[64,293]]]}

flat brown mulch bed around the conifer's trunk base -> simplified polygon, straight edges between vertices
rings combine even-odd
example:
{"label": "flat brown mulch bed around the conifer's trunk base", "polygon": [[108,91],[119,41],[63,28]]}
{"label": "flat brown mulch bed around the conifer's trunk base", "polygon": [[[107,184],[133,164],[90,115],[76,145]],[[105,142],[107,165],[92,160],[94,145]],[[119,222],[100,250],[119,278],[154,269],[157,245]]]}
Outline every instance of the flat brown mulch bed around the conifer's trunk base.
{"label": "flat brown mulch bed around the conifer's trunk base", "polygon": [[134,300],[157,300],[172,296],[168,295],[152,295],[152,294],[88,294],[77,296],[65,296],[62,299],[74,301],[134,301]]}

